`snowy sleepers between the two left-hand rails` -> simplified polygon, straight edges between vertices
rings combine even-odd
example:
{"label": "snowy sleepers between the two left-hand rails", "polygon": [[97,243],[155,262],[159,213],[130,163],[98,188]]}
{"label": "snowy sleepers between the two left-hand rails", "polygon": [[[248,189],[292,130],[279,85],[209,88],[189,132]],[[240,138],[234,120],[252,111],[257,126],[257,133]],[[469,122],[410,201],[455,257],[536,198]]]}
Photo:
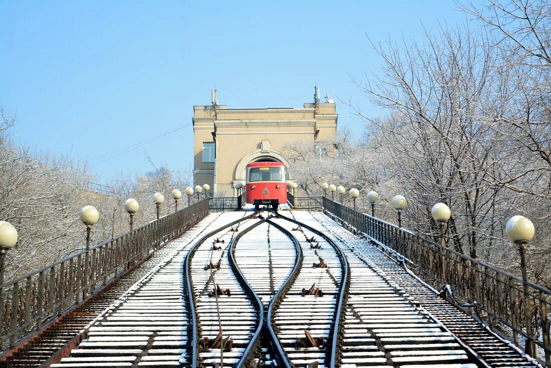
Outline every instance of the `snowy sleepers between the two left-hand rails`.
{"label": "snowy sleepers between the two left-hand rails", "polygon": [[228,258],[233,238],[258,221],[258,218],[251,218],[215,233],[191,254],[191,282],[201,337],[198,343],[202,345],[199,349],[202,366],[212,366],[212,362],[219,363],[222,359],[222,344],[210,345],[220,332],[224,340],[231,337],[231,348],[228,344],[223,351],[224,365],[236,364],[258,326],[253,301],[234,275]]}

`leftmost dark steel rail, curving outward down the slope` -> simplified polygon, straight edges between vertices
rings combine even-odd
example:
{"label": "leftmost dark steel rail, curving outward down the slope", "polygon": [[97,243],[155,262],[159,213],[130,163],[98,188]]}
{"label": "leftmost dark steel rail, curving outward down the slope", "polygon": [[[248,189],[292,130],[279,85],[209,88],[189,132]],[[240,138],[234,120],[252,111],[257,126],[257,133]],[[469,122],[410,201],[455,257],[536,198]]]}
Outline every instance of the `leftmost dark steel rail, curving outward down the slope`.
{"label": "leftmost dark steel rail, curving outward down the slope", "polygon": [[185,259],[185,273],[186,273],[186,288],[187,288],[187,296],[188,296],[188,303],[190,305],[190,314],[191,314],[191,321],[192,321],[192,335],[191,335],[191,348],[192,348],[192,360],[191,365],[193,368],[197,368],[197,349],[198,349],[198,343],[197,343],[197,315],[195,313],[195,297],[193,296],[193,284],[191,283],[191,258],[193,257],[193,254],[195,254],[195,251],[201,244],[203,244],[209,237],[212,237],[214,234],[219,233],[220,231],[223,231],[224,229],[233,226],[237,223],[246,221],[246,220],[252,220],[256,216],[256,212],[250,216],[245,216],[238,218],[235,221],[231,221],[229,223],[226,223],[223,226],[220,226],[218,228],[215,228],[213,231],[205,234],[201,239],[199,239],[195,244],[193,244],[193,247],[187,252],[186,259]]}

